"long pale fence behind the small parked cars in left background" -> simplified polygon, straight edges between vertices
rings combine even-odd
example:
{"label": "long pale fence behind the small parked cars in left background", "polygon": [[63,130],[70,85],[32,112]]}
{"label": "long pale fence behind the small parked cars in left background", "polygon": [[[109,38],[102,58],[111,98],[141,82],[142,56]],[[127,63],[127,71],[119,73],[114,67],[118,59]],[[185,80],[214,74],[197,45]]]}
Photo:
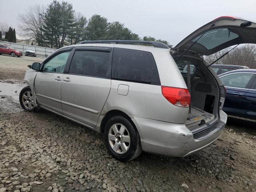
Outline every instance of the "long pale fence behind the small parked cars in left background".
{"label": "long pale fence behind the small parked cars in left background", "polygon": [[36,54],[44,55],[44,56],[48,56],[56,51],[56,49],[47,48],[47,47],[26,45],[26,44],[20,44],[20,43],[11,43],[11,42],[5,42],[5,41],[0,41],[0,44],[6,44],[8,46],[11,46],[12,48],[18,51],[22,51],[23,54],[25,54],[26,49],[34,49],[36,50]]}

